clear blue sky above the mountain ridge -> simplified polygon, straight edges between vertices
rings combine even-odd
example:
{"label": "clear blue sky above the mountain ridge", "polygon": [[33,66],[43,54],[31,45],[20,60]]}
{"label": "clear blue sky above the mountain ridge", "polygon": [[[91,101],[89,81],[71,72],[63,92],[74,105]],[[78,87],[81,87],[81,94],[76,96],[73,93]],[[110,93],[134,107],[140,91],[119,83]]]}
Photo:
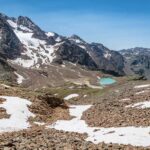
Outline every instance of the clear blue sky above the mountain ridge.
{"label": "clear blue sky above the mountain ridge", "polygon": [[114,50],[150,48],[150,0],[0,0],[0,11]]}

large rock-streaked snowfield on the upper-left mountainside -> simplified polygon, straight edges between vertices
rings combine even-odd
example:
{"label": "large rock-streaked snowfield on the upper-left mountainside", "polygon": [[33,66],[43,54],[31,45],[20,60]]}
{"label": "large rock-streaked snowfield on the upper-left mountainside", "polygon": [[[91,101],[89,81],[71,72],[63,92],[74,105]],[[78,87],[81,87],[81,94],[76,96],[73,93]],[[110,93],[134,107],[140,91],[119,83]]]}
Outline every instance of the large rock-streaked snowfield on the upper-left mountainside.
{"label": "large rock-streaked snowfield on the upper-left mountainside", "polygon": [[26,68],[39,68],[39,63],[49,64],[56,57],[54,51],[58,49],[61,43],[59,45],[47,45],[46,41],[34,38],[32,32],[23,32],[17,29],[14,32],[25,48],[21,55],[27,57],[27,59],[20,57],[13,61],[11,60],[12,63]]}

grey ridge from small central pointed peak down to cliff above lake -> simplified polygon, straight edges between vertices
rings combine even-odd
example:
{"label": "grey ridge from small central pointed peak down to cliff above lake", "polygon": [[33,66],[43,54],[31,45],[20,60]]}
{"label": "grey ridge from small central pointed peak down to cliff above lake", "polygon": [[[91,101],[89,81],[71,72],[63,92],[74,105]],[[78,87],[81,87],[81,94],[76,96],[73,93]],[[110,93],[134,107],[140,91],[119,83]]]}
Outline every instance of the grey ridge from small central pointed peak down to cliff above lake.
{"label": "grey ridge from small central pointed peak down to cliff above lake", "polygon": [[71,36],[69,40],[89,54],[97,69],[113,75],[125,75],[123,71],[124,58],[117,51],[109,50],[99,43],[86,43],[77,35]]}

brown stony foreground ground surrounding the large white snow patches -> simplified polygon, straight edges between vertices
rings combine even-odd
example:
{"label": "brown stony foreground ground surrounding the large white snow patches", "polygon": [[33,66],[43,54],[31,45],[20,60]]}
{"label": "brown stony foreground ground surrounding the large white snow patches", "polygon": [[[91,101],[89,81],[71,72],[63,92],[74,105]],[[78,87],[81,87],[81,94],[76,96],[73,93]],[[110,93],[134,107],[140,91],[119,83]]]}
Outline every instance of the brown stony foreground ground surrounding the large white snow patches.
{"label": "brown stony foreground ground surrounding the large white snow patches", "polygon": [[[70,85],[69,85],[70,86]],[[79,88],[79,89],[78,89]],[[81,90],[82,89],[82,90]],[[47,89],[39,91],[28,91],[20,87],[1,86],[1,95],[19,96],[30,99],[32,105],[29,110],[35,115],[30,117],[30,128],[18,131],[0,134],[0,149],[22,150],[22,149],[43,149],[43,150],[143,150],[150,149],[148,146],[136,146],[131,144],[123,145],[121,143],[105,143],[87,141],[88,134],[65,132],[47,128],[58,120],[72,120],[74,116],[69,115],[68,107],[70,105],[92,105],[83,112],[81,119],[85,120],[89,127],[119,128],[119,127],[149,127],[149,98],[150,84],[148,81],[126,81],[126,83],[106,87],[103,90],[91,90],[86,87],[72,86],[65,88],[67,91],[57,90],[54,93]],[[45,91],[48,94],[45,94]],[[82,91],[82,92],[81,92]],[[50,94],[51,93],[51,94]],[[64,101],[62,97],[73,94],[70,99]],[[76,94],[75,94],[76,93]],[[55,95],[55,96],[54,96]],[[56,96],[57,95],[57,96]],[[81,102],[82,101],[82,102]],[[1,99],[0,104],[5,100]],[[146,103],[145,103],[146,102]],[[0,111],[0,119],[9,118],[9,114]],[[43,123],[43,124],[42,124]],[[67,126],[66,126],[67,130]],[[101,131],[101,130],[100,130]],[[95,130],[95,132],[97,132]],[[107,136],[115,134],[108,132]],[[126,132],[128,134],[128,131]],[[120,135],[126,136],[126,135]],[[130,141],[129,141],[130,143]]]}

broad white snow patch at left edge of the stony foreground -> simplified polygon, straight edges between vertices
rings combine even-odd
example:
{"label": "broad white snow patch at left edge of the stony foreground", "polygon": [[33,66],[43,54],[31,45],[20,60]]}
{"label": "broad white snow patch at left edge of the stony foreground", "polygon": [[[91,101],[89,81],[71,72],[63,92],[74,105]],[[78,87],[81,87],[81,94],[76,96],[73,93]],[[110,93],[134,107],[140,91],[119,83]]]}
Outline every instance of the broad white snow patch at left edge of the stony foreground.
{"label": "broad white snow patch at left edge of the stony foreground", "polygon": [[10,118],[0,119],[0,132],[19,131],[30,127],[28,119],[35,117],[28,110],[28,105],[31,105],[30,101],[12,96],[0,96],[0,98],[6,99],[0,107],[6,109],[7,114],[10,115]]}

